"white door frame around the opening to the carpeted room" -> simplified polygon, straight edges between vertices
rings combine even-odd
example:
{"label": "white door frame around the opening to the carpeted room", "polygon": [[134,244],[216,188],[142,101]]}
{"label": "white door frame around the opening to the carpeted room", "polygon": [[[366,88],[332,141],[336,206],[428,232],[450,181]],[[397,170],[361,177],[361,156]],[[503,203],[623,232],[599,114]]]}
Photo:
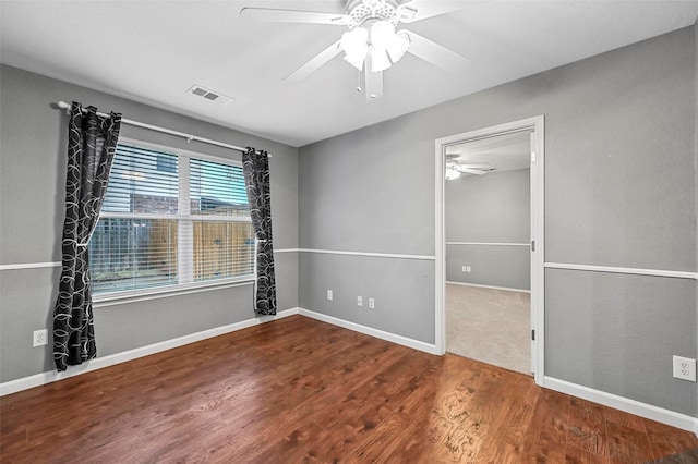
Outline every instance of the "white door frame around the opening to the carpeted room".
{"label": "white door frame around the opening to the carpeted room", "polygon": [[545,282],[543,265],[545,251],[545,118],[537,115],[528,119],[493,125],[476,131],[468,131],[435,141],[436,159],[436,200],[435,200],[435,329],[436,352],[446,353],[446,228],[445,228],[445,181],[446,148],[482,138],[514,132],[531,131],[531,371],[538,386],[544,384],[544,341],[545,341]]}

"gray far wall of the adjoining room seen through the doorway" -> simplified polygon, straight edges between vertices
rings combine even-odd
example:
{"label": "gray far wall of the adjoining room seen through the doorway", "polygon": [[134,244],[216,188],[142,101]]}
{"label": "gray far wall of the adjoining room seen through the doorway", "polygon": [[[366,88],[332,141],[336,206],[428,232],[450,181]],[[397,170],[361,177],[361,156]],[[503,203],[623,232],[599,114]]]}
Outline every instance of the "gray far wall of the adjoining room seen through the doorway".
{"label": "gray far wall of the adjoining room seen through the doorway", "polygon": [[[444,187],[446,242],[530,242],[530,169],[461,175]],[[470,272],[462,267],[470,266]],[[530,290],[530,248],[446,245],[448,282]]]}

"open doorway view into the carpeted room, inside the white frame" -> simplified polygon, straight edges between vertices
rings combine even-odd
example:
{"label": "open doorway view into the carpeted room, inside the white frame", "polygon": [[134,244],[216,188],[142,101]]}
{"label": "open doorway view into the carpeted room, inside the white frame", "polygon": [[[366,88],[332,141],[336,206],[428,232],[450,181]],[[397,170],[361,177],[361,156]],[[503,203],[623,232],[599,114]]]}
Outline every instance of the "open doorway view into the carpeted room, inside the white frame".
{"label": "open doorway view into the carpeted room, inside the white frame", "polygon": [[530,134],[446,147],[446,351],[531,374]]}

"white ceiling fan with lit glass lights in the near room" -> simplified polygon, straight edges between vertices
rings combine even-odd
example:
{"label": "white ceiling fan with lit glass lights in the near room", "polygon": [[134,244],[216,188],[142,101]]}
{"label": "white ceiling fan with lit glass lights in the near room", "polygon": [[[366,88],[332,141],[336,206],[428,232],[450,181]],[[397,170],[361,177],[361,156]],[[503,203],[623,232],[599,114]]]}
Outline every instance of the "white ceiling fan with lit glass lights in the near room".
{"label": "white ceiling fan with lit glass lights in the near room", "polygon": [[[347,0],[344,13],[278,10],[246,7],[240,16],[278,23],[334,24],[347,27],[341,38],[288,75],[285,81],[306,77],[329,60],[345,52],[345,60],[364,74],[366,100],[383,96],[383,71],[411,53],[446,71],[458,72],[468,59],[419,34],[397,29],[465,7],[462,1],[434,0]],[[357,87],[361,91],[361,85]]]}

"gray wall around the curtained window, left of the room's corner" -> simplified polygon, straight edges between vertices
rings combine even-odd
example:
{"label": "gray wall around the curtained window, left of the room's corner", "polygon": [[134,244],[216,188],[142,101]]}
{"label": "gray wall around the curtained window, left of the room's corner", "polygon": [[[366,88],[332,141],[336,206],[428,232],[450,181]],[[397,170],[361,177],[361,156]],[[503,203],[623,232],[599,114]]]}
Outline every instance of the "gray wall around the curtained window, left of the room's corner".
{"label": "gray wall around the curtained window, left of the room's corner", "polygon": [[[275,248],[298,247],[298,149],[122,98],[2,65],[0,68],[0,264],[60,261],[64,216],[64,111],[77,100],[103,111],[273,154]],[[122,125],[121,135],[216,156],[240,154]],[[276,256],[279,309],[298,306],[298,256]],[[32,347],[32,331],[50,327],[59,268],[0,271],[0,381],[53,369],[50,345]],[[99,356],[106,356],[254,317],[252,286],[206,291],[95,308]]]}

